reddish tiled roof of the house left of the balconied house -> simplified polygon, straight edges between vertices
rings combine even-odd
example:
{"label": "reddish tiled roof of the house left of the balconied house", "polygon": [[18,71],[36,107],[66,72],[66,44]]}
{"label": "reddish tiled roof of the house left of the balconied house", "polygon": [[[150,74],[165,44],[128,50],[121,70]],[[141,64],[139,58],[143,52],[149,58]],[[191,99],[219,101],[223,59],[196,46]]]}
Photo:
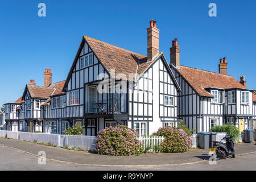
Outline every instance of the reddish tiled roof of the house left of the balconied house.
{"label": "reddish tiled roof of the house left of the balconied house", "polygon": [[52,94],[60,94],[62,92],[64,81],[56,82],[48,87],[38,85],[27,85],[28,91],[32,98],[49,98]]}

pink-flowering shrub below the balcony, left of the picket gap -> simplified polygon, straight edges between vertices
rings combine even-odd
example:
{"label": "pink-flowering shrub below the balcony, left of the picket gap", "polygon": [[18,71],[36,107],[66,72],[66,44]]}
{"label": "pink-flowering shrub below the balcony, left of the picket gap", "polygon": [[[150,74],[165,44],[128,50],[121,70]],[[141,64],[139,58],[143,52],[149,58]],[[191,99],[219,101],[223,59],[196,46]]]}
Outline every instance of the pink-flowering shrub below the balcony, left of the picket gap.
{"label": "pink-flowering shrub below the balcony, left of the picket gap", "polygon": [[105,155],[139,155],[142,143],[137,140],[137,133],[127,126],[117,125],[98,132],[96,151]]}

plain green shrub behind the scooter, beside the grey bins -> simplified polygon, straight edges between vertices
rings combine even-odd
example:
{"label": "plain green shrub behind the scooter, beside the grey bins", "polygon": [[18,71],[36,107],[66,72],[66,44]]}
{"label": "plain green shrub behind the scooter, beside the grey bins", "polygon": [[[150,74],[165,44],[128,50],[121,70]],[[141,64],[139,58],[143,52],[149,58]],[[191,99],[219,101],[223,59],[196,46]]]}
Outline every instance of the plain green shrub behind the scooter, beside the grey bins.
{"label": "plain green shrub behind the scooter, beside the grey bins", "polygon": [[219,125],[214,126],[210,129],[212,132],[218,132],[218,133],[226,133],[227,135],[234,135],[234,142],[238,142],[240,140],[240,132],[238,128],[234,125]]}

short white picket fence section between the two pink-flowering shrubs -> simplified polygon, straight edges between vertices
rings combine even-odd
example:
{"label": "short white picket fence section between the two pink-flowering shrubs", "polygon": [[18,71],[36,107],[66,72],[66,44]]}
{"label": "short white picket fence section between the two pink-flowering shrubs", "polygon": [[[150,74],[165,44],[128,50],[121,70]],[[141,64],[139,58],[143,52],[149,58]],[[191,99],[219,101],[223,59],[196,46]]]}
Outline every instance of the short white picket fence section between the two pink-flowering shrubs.
{"label": "short white picket fence section between the two pink-flowering shrubs", "polygon": [[163,142],[164,137],[138,137],[143,143],[144,152],[159,152],[158,147]]}

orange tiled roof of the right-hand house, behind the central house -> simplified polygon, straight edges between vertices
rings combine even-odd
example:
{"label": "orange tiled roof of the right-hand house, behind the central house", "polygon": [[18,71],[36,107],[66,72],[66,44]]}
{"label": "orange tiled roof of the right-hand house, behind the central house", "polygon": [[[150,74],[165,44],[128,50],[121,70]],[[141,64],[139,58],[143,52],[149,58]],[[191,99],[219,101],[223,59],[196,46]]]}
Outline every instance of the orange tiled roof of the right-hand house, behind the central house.
{"label": "orange tiled roof of the right-hand house, behind the central house", "polygon": [[204,71],[202,69],[190,68],[180,66],[180,69],[176,69],[181,75],[191,84],[192,88],[196,90],[200,96],[213,97],[208,93],[205,88],[243,88],[246,89],[239,81],[233,76],[222,75],[220,73],[214,73]]}

